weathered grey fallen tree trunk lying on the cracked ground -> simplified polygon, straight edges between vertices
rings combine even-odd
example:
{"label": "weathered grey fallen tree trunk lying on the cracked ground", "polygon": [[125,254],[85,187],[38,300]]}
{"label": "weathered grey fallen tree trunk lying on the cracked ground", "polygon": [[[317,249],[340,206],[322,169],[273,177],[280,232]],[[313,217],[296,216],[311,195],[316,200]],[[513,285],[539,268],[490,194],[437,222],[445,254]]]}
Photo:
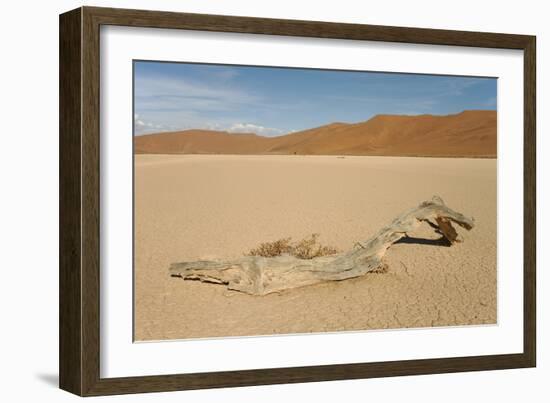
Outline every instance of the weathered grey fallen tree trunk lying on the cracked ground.
{"label": "weathered grey fallen tree trunk lying on the cracked ground", "polygon": [[358,242],[345,253],[314,259],[282,255],[244,256],[229,261],[199,260],[174,263],[170,266],[170,274],[185,280],[223,284],[230,290],[252,295],[266,295],[323,281],[346,280],[383,269],[382,258],[386,250],[422,222],[434,227],[449,245],[460,242],[452,222],[467,230],[474,226],[473,218],[451,210],[441,198],[434,196],[431,201],[401,214],[372,238]]}

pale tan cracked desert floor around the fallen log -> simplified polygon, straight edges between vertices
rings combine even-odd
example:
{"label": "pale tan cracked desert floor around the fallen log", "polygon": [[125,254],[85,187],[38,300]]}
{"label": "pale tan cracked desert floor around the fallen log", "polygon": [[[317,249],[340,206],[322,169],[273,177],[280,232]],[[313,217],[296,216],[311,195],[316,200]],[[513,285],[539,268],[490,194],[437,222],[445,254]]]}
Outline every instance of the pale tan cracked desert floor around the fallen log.
{"label": "pale tan cracked desert floor around the fallen log", "polygon": [[[136,155],[135,338],[160,340],[496,322],[495,159]],[[340,250],[437,194],[473,216],[464,242],[427,225],[386,273],[250,296],[170,277],[171,263],[236,258],[261,242]]]}

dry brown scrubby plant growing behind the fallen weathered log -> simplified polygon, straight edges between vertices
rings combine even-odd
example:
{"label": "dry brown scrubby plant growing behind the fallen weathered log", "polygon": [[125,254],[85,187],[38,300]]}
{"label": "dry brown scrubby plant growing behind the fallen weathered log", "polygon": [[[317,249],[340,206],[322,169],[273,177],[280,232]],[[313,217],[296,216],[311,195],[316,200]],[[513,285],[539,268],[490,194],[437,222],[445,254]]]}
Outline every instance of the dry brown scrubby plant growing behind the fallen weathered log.
{"label": "dry brown scrubby plant growing behind the fallen weathered log", "polygon": [[274,242],[264,242],[257,248],[251,249],[248,256],[274,257],[283,254],[295,256],[299,259],[313,259],[319,256],[328,256],[338,253],[338,249],[332,246],[317,243],[319,234],[311,234],[297,242],[291,242],[292,238],[281,238]]}

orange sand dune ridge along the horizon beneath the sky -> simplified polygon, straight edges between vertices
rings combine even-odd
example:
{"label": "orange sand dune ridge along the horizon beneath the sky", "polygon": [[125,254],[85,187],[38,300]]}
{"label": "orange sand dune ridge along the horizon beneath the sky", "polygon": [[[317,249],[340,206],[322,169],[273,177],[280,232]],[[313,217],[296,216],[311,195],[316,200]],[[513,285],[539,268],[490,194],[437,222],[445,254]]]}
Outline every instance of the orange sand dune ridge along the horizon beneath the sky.
{"label": "orange sand dune ridge along the horizon beneath the sky", "polygon": [[377,115],[277,137],[185,130],[134,137],[137,154],[298,154],[489,157],[497,154],[497,112]]}

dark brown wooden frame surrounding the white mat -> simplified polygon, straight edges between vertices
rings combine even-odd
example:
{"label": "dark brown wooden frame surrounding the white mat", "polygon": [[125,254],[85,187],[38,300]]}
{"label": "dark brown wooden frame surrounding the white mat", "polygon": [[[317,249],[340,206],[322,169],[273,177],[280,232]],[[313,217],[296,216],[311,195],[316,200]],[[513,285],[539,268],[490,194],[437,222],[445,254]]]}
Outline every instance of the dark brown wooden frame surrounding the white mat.
{"label": "dark brown wooden frame surrounding the white mat", "polygon": [[[524,52],[523,353],[276,369],[100,377],[100,26],[171,28]],[[81,7],[60,16],[60,387],[80,396],[533,367],[535,37],[484,32]]]}

